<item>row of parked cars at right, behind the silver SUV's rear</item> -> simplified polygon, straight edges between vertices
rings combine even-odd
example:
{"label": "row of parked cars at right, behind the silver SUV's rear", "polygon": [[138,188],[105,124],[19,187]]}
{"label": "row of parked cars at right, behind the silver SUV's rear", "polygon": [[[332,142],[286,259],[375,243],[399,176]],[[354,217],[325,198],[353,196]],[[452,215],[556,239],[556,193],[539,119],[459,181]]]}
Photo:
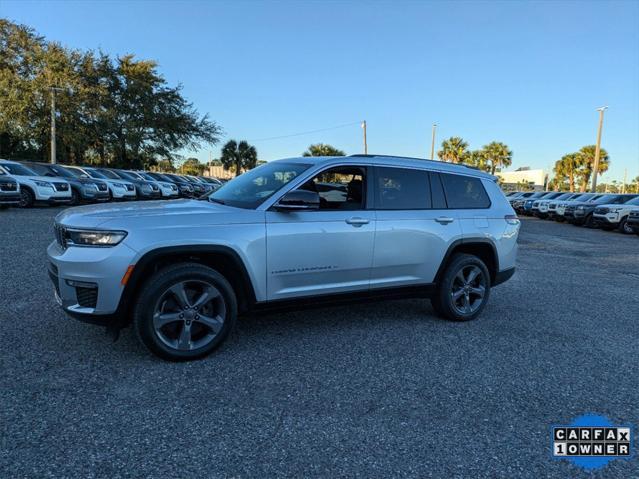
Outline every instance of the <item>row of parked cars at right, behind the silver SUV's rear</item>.
{"label": "row of parked cars at right, behind the silver SUV's rear", "polygon": [[639,235],[638,194],[538,191],[506,197],[522,215]]}

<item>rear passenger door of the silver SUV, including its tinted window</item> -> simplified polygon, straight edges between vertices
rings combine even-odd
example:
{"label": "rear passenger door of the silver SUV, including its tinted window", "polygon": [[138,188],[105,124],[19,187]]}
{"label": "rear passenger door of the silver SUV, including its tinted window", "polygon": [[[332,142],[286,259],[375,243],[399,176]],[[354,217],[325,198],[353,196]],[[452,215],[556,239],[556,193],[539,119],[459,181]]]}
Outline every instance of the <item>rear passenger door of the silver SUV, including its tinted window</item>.
{"label": "rear passenger door of the silver SUV, including its tinted window", "polygon": [[371,289],[432,283],[448,246],[461,238],[439,174],[375,167],[377,212]]}

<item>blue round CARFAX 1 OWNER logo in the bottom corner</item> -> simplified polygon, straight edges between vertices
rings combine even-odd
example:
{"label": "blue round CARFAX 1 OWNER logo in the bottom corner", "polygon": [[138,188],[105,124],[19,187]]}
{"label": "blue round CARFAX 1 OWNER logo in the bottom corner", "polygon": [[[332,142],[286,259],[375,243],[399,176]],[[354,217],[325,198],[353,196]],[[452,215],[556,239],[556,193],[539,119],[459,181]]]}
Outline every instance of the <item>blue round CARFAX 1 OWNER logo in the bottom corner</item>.
{"label": "blue round CARFAX 1 OWNER logo in the bottom corner", "polygon": [[584,469],[599,469],[613,459],[630,459],[632,428],[614,426],[608,418],[588,414],[568,426],[552,427],[552,451]]}

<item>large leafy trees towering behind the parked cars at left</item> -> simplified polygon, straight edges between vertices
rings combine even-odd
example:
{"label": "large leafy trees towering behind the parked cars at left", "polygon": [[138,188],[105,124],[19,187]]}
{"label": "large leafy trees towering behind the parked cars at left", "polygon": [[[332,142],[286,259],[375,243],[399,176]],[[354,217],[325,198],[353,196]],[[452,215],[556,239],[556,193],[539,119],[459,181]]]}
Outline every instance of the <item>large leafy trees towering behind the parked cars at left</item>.
{"label": "large leafy trees towering behind the parked cars at left", "polygon": [[219,139],[154,61],[67,49],[0,19],[2,156],[48,158],[51,87],[60,162],[139,168]]}

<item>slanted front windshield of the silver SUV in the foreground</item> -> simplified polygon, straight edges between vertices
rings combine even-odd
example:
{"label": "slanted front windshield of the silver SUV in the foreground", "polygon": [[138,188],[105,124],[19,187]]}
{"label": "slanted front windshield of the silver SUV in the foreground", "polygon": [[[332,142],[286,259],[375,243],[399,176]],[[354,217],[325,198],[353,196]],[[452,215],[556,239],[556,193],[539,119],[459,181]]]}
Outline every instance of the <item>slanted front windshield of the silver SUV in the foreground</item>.
{"label": "slanted front windshield of the silver SUV in the foreground", "polygon": [[311,165],[274,161],[247,171],[209,196],[211,201],[254,209]]}

